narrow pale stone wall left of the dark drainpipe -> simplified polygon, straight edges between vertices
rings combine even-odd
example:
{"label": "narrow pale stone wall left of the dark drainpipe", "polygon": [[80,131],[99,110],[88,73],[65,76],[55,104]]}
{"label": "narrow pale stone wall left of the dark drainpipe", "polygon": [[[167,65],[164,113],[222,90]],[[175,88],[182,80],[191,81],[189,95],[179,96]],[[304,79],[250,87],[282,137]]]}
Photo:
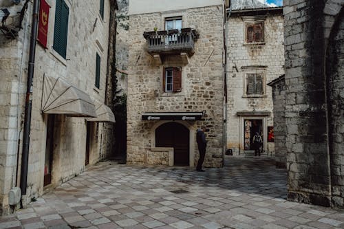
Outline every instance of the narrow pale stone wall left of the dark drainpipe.
{"label": "narrow pale stone wall left of the dark drainpipe", "polygon": [[[5,25],[19,25],[17,12],[23,4],[14,5],[10,1],[0,1],[1,8],[10,11]],[[31,4],[29,4],[29,12]],[[22,135],[23,104],[25,92],[28,39],[31,17],[23,19],[23,29],[18,39],[6,39],[0,34],[0,215],[8,214],[8,191],[16,186],[18,138]],[[22,55],[23,52],[23,55]]]}

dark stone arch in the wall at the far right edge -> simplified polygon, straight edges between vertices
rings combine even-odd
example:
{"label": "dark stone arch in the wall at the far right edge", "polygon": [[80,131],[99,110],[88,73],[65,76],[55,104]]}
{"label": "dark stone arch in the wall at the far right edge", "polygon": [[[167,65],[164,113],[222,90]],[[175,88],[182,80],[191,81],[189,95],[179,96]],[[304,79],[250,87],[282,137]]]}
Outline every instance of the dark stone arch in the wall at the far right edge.
{"label": "dark stone arch in the wall at the far right edge", "polygon": [[328,39],[325,78],[327,97],[327,136],[328,150],[330,156],[330,172],[332,186],[332,206],[344,206],[344,188],[341,180],[344,171],[338,168],[343,167],[343,144],[344,144],[344,10],[336,15]]}

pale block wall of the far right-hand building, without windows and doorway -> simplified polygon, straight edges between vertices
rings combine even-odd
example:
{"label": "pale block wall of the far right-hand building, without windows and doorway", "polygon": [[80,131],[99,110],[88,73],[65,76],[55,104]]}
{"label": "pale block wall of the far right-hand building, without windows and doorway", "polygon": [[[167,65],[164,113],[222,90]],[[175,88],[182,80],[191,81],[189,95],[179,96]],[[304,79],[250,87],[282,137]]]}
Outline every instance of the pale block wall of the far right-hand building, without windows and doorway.
{"label": "pale block wall of the far right-hand building, without windows and doorway", "polygon": [[[264,14],[260,16],[264,16]],[[231,14],[227,21],[227,127],[226,147],[233,155],[243,153],[243,135],[237,111],[270,111],[266,126],[273,126],[272,89],[265,86],[264,96],[246,97],[244,67],[266,67],[264,85],[284,74],[283,15],[267,14],[264,20],[264,44],[245,44],[245,22],[241,16]],[[253,116],[253,114],[252,114]],[[266,132],[265,132],[266,133]],[[266,133],[267,134],[267,133]],[[267,135],[263,138],[266,140]],[[266,149],[274,153],[274,143]]]}

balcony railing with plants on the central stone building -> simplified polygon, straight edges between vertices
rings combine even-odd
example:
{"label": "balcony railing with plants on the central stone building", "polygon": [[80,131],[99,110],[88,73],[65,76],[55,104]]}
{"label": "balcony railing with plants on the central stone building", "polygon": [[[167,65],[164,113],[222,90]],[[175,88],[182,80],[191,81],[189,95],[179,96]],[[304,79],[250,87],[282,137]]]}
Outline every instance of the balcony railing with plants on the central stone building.
{"label": "balcony railing with plants on the central stone building", "polygon": [[182,30],[162,30],[144,32],[150,54],[175,54],[186,52],[189,56],[195,53],[195,41],[199,34],[191,28]]}

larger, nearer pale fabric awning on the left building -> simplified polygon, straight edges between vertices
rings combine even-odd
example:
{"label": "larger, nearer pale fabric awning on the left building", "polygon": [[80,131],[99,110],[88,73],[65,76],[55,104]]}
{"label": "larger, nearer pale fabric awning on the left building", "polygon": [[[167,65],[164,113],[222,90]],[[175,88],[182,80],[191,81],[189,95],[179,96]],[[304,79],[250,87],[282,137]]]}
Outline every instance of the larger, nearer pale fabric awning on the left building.
{"label": "larger, nearer pale fabric awning on the left building", "polygon": [[96,117],[96,107],[88,94],[63,78],[45,74],[41,110],[43,113]]}

